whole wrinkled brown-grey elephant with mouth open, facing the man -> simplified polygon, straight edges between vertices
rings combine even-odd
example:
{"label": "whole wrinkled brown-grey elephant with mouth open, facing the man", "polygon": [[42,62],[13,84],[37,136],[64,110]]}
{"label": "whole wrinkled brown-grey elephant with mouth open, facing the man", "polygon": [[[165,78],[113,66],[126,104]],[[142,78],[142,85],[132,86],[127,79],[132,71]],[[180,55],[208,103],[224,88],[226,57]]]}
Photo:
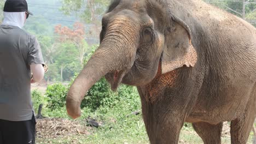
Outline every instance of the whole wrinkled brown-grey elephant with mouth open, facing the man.
{"label": "whole wrinkled brown-grey elephant with mouth open, facing the man", "polygon": [[81,116],[101,77],[136,86],[150,143],[178,143],[184,122],[204,143],[246,143],[256,116],[256,29],[201,0],[114,0],[100,46],[71,85],[67,113]]}

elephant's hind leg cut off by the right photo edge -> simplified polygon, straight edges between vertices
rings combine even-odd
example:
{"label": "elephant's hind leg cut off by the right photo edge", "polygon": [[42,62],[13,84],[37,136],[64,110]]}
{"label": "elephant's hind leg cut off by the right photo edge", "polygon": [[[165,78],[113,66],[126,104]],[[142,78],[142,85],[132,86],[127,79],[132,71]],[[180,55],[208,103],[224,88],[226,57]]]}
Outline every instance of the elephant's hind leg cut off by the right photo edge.
{"label": "elephant's hind leg cut off by the right photo edge", "polygon": [[255,120],[255,94],[252,94],[251,99],[245,109],[245,113],[231,121],[231,143],[232,144],[246,144],[248,141],[249,134],[252,131],[254,120]]}

